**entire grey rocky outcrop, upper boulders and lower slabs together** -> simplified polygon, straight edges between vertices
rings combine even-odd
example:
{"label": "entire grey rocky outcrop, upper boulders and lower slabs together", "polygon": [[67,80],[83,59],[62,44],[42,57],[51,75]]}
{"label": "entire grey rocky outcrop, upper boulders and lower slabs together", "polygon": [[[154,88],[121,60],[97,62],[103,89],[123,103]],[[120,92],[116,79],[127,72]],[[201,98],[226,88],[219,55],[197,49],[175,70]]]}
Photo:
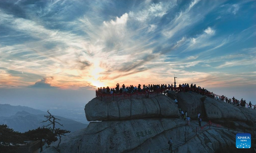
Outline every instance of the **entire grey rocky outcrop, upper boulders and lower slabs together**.
{"label": "entire grey rocky outcrop, upper boulders and lower slabs together", "polygon": [[[159,95],[108,103],[92,99],[85,106],[87,120],[103,121],[91,122],[87,128],[63,137],[61,152],[170,152],[167,143],[170,137],[173,152],[215,152],[223,146],[235,147],[236,133],[244,130],[251,134],[255,132],[255,110],[211,98],[202,101],[203,96],[196,93],[172,93],[170,97]],[[205,126],[198,128],[197,120],[191,120],[190,126],[186,125],[172,98],[178,98],[179,106],[192,118],[200,112],[202,126]],[[209,120],[213,122],[211,128],[207,125]],[[235,127],[228,130],[223,126],[228,121],[232,121]],[[223,125],[216,127],[214,122]],[[51,146],[57,146],[57,143]],[[44,152],[56,150],[51,147]]]}

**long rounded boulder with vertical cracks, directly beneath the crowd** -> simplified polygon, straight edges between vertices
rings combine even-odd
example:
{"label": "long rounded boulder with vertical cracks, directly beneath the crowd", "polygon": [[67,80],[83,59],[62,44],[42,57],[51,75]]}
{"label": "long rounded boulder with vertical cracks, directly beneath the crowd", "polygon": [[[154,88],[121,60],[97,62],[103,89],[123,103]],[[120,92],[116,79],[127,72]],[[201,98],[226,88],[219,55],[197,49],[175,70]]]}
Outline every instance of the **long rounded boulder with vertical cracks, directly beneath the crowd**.
{"label": "long rounded boulder with vertical cracks, directly beneath the crowd", "polygon": [[125,120],[155,117],[179,117],[174,101],[162,94],[151,98],[131,98],[104,102],[93,98],[85,105],[88,121]]}

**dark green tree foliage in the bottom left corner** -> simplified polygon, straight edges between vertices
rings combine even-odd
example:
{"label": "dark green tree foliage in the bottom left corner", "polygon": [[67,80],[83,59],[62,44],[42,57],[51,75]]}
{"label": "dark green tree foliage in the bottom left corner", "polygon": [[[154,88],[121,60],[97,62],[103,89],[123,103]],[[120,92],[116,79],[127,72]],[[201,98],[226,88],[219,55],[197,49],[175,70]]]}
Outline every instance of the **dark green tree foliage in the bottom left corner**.
{"label": "dark green tree foliage in the bottom left corner", "polygon": [[13,131],[7,125],[0,125],[0,153],[10,153],[17,144],[24,144],[25,137],[20,132]]}

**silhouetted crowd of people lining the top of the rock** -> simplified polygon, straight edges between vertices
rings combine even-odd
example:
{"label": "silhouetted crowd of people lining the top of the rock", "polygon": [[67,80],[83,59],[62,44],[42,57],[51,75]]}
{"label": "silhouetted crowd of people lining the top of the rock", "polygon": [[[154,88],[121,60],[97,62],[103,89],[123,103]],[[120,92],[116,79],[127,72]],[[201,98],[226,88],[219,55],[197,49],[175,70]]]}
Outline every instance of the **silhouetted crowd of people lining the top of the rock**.
{"label": "silhouetted crowd of people lining the top of the rock", "polygon": [[[120,84],[116,84],[116,88],[109,88],[108,86],[105,87],[100,87],[98,88],[98,90],[96,90],[98,93],[102,93],[102,94],[115,94],[115,93],[135,93],[135,92],[153,92],[153,91],[160,91],[161,93],[167,93],[168,91],[175,91],[175,92],[180,92],[180,91],[184,91],[184,92],[196,92],[198,94],[201,94],[203,96],[207,96],[210,98],[215,98],[217,100],[221,100],[223,102],[232,104],[232,105],[236,105],[236,106],[246,106],[246,101],[243,100],[243,98],[239,101],[236,98],[228,98],[224,95],[219,96],[216,95],[204,88],[201,88],[200,86],[196,86],[196,84],[179,84],[179,86],[177,87],[176,84],[148,84],[145,85],[143,84],[142,86],[140,84],[138,84],[137,86],[125,86],[124,84],[122,86],[120,86]],[[248,108],[252,109],[252,103],[251,101],[248,104]],[[255,109],[255,105],[253,106],[253,109]]]}

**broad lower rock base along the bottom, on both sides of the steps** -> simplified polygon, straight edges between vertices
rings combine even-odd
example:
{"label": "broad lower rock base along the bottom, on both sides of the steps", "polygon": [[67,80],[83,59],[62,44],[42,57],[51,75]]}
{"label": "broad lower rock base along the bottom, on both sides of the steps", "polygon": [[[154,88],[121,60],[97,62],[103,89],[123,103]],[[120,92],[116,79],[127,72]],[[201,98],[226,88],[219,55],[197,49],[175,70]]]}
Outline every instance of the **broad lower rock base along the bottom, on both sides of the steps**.
{"label": "broad lower rock base along the bottom, on both sides of the steps", "polygon": [[[180,119],[132,119],[117,121],[91,122],[86,129],[63,137],[60,143],[62,153],[101,153],[101,152],[169,152],[168,140],[172,137],[175,152],[214,153],[220,146],[234,147],[238,131],[224,128],[197,131],[197,121],[190,127]],[[205,124],[204,122],[203,124]],[[184,131],[189,135],[187,142]],[[57,146],[53,142],[51,146]],[[177,148],[177,149],[176,149]],[[53,147],[43,153],[57,153]]]}

